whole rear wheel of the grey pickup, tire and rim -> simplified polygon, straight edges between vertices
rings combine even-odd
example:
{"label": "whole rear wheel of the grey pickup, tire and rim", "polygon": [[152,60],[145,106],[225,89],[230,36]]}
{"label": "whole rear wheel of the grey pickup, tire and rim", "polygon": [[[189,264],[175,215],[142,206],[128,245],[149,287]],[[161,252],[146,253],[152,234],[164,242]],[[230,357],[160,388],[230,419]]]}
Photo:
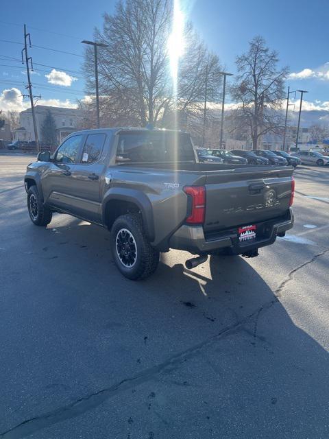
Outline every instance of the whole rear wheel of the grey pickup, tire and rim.
{"label": "whole rear wheel of the grey pickup, tire and rim", "polygon": [[150,246],[138,215],[128,213],[115,220],[111,247],[117,268],[128,279],[147,278],[158,267],[159,252]]}

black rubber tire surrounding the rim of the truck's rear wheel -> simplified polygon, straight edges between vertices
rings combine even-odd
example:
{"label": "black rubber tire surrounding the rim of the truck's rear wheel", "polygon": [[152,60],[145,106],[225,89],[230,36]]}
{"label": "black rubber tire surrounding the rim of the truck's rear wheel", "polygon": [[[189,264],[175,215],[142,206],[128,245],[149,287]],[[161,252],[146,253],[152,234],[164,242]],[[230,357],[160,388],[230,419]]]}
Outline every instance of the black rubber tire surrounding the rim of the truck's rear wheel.
{"label": "black rubber tire surrounding the rim of the truck's rear wheel", "polygon": [[[117,239],[121,230],[128,230],[136,246],[136,260],[132,267],[127,267],[121,261],[117,250]],[[119,216],[111,228],[111,248],[115,264],[123,276],[137,281],[145,279],[156,271],[159,262],[159,252],[150,246],[146,237],[141,218],[127,213]]]}

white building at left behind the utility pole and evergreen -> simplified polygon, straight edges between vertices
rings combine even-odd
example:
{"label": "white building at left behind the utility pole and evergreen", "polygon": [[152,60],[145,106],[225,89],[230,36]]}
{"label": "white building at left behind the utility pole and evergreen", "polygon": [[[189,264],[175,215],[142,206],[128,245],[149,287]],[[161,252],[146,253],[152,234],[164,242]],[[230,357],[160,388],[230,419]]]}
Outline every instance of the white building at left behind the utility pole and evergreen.
{"label": "white building at left behind the utility pole and evergreen", "polygon": [[[37,105],[34,108],[36,114],[36,128],[38,130],[38,139],[42,143],[42,123],[50,111],[56,125],[57,143],[77,130],[82,118],[81,110],[75,108],[50,107],[45,105]],[[35,141],[32,110],[28,108],[19,115],[20,127],[14,130],[15,140]]]}

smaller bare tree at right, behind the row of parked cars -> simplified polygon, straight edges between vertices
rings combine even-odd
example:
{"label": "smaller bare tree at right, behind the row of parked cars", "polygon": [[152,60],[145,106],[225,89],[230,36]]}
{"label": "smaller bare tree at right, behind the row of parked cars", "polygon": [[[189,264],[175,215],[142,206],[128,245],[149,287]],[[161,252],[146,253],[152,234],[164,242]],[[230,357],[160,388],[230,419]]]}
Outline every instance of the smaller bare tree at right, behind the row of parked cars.
{"label": "smaller bare tree at right, behind the row of parked cars", "polygon": [[236,58],[239,75],[231,88],[239,104],[236,121],[249,128],[254,149],[263,134],[282,131],[280,108],[288,69],[279,69],[278,61],[278,53],[270,50],[261,36],[253,38],[249,50]]}

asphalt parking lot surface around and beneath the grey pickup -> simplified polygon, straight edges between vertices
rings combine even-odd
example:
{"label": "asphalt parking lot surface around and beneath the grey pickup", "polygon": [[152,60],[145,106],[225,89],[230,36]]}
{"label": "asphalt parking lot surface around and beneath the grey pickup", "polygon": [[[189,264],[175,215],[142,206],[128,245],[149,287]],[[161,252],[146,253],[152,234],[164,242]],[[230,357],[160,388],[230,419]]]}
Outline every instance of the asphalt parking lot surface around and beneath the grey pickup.
{"label": "asphalt parking lot surface around and beneath the grey pickup", "polygon": [[171,250],[135,283],[106,230],[30,222],[32,160],[0,155],[0,438],[329,437],[329,167],[259,257]]}

